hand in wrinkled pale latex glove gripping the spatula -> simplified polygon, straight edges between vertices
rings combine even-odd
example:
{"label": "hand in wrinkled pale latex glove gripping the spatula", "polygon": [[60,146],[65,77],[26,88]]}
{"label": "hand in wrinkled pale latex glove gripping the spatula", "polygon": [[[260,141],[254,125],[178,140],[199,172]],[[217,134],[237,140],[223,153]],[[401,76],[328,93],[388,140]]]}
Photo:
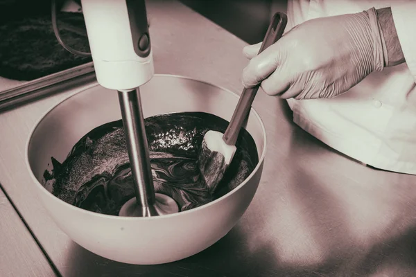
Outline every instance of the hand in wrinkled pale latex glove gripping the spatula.
{"label": "hand in wrinkled pale latex glove gripping the spatula", "polygon": [[333,98],[388,64],[374,8],[311,19],[257,55],[260,46],[243,49],[251,59],[243,84],[261,82],[263,91],[281,98]]}

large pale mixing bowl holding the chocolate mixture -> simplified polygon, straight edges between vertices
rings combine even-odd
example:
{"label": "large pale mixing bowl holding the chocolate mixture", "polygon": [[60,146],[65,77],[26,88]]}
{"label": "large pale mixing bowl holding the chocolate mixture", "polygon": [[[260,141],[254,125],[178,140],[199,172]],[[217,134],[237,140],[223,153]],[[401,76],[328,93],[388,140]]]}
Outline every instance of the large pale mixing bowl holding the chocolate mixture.
{"label": "large pale mixing bowl holding the chocolate mixture", "polygon": [[[178,111],[205,111],[229,120],[238,96],[206,82],[155,75],[141,87],[144,117]],[[55,197],[44,184],[51,157],[63,162],[73,145],[94,127],[121,119],[117,93],[97,85],[62,101],[33,129],[26,149],[33,186],[60,229],[81,247],[119,262],[154,265],[181,260],[223,238],[248,208],[261,177],[266,131],[254,109],[246,129],[259,152],[259,163],[227,195],[182,213],[159,217],[117,217],[77,208]]]}

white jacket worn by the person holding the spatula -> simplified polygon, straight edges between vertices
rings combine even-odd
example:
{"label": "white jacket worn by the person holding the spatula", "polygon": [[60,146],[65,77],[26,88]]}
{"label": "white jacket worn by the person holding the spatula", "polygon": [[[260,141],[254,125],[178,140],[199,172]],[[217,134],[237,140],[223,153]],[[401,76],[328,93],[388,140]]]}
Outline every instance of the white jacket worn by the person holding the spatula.
{"label": "white jacket worn by the person holding the spatula", "polygon": [[286,30],[316,17],[388,6],[406,63],[370,74],[337,98],[288,104],[295,123],[331,148],[375,168],[416,175],[416,0],[289,0]]}

